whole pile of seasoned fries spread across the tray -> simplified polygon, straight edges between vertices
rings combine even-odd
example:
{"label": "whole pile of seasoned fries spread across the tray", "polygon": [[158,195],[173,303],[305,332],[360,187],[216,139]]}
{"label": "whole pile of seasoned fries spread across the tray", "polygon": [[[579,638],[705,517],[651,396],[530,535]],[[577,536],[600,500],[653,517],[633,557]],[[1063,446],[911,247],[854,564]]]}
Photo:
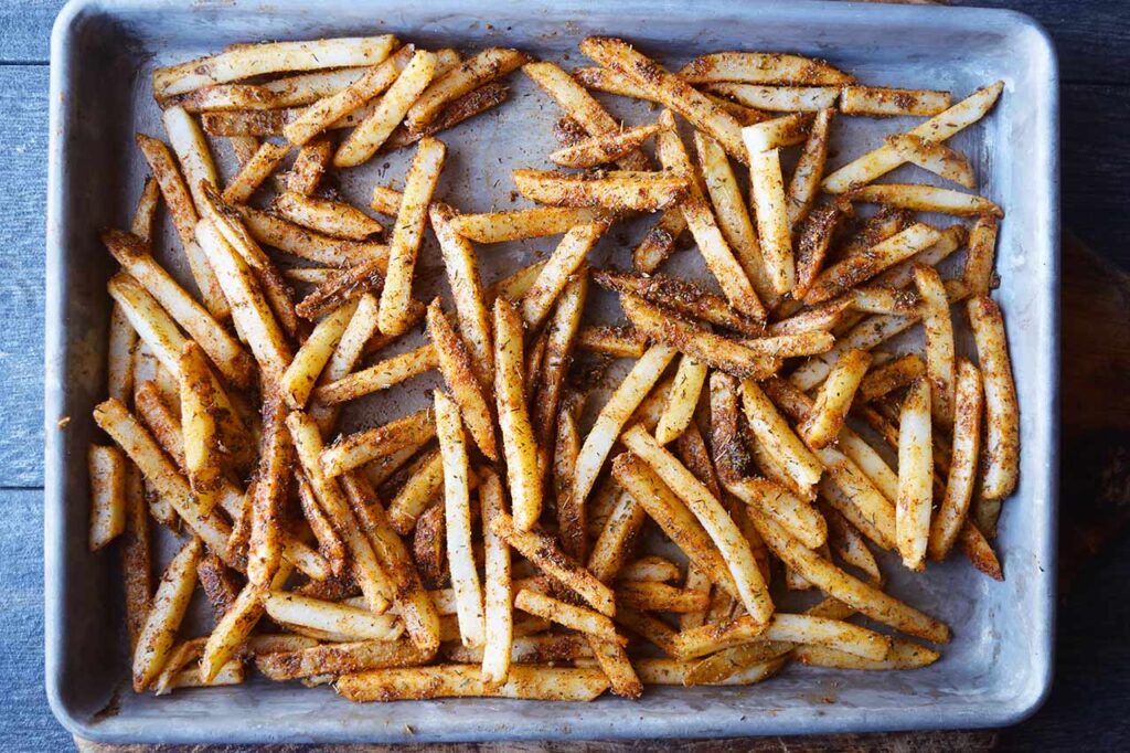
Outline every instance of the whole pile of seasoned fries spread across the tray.
{"label": "whole pile of seasoned fries spread across the tray", "polygon": [[[990,298],[1002,211],[875,182],[913,163],[974,188],[946,140],[1002,85],[955,104],[791,54],[669,72],[620,40],[580,49],[598,67],[377,36],[155,72],[167,144],[138,135],[151,178],[130,231],[102,236],[121,270],[94,417],[113,443],[88,458],[90,548],[120,540],[136,691],[241,683],[252,664],[355,701],[637,698],[792,660],[911,669],[939,654],[910,639],[949,629],[884,591],[873,551],[922,571],[956,547],[1002,577],[990,540],[1019,458]],[[461,214],[436,196],[436,136],[505,102],[519,68],[564,112],[548,159],[572,172],[516,170],[536,206]],[[655,121],[623,126],[590,90],[657,103]],[[849,115],[925,120],[828,172]],[[227,185],[208,137],[242,165]],[[388,230],[325,185],[330,167],[409,147],[402,188],[373,190]],[[162,201],[194,292],[154,256]],[[631,270],[590,267],[612,225],[647,213]],[[450,308],[412,295],[428,228]],[[477,245],[551,235],[547,259],[480,283]],[[694,253],[685,235],[716,287],[657,271]],[[585,318],[593,283],[627,326]],[[976,365],[956,352],[954,306]],[[880,349],[919,323],[921,352]],[[420,324],[425,345],[386,355]],[[586,426],[614,358],[634,364]],[[347,404],[433,371],[426,409],[338,433]],[[183,540],[156,585],[150,518]],[[198,582],[215,626],[190,638]],[[806,589],[823,600],[777,607]]]}

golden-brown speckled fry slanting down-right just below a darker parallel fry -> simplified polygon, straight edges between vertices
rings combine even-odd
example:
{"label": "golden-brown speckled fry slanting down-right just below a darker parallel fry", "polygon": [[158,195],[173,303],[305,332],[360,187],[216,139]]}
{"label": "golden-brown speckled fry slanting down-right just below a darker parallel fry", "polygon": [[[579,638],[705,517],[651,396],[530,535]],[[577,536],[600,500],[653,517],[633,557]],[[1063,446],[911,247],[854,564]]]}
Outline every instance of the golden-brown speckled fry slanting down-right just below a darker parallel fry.
{"label": "golden-brown speckled fry slanting down-right just below a darker parallel fry", "polygon": [[[780,369],[780,362],[750,348],[747,344],[715,335],[702,324],[664,311],[643,298],[624,294],[620,305],[636,331],[658,347],[680,352],[714,369],[741,376],[764,379]],[[753,340],[756,343],[756,340]]]}

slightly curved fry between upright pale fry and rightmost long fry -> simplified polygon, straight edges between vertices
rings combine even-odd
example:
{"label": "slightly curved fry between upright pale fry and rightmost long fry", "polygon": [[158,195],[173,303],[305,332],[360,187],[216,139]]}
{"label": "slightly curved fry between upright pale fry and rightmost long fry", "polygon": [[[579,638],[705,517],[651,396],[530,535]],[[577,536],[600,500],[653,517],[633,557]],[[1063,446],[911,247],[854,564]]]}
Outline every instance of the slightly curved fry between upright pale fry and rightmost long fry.
{"label": "slightly curved fry between upright pale fry and rightmost long fry", "polygon": [[957,363],[957,388],[954,408],[954,445],[950,455],[946,492],[930,525],[930,557],[946,559],[965,523],[970,500],[977,478],[981,452],[981,412],[984,391],[981,372],[968,361]]}

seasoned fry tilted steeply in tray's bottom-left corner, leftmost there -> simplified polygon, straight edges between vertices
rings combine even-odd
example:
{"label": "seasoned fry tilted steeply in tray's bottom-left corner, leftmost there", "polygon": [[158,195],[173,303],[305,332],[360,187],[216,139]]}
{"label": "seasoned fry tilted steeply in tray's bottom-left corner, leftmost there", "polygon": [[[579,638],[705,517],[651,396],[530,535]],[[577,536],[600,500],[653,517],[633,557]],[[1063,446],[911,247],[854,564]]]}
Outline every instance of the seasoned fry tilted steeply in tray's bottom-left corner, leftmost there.
{"label": "seasoned fry tilted steeply in tray's bottom-left corner, leftmost there", "polygon": [[160,578],[133,651],[133,691],[137,693],[156,680],[168,658],[195,588],[201,548],[199,538],[190,539],[168,563]]}

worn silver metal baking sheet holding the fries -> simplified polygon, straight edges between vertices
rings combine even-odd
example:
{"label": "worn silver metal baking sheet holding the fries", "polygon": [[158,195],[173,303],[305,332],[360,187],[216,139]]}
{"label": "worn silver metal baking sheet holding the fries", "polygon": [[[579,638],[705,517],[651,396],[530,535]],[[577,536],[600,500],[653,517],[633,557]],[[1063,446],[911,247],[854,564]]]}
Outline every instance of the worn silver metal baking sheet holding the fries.
{"label": "worn silver metal baking sheet holding the fries", "polygon": [[[638,702],[606,695],[589,704],[444,700],[353,704],[329,689],[257,678],[243,686],[179,691],[156,699],[128,686],[120,568],[86,551],[85,448],[96,436],[90,408],[105,393],[105,282],[112,263],[102,227],[125,223],[145,165],[133,132],[159,135],[153,68],[234,42],[397,33],[429,46],[471,51],[518,46],[566,67],[588,64],[576,44],[621,35],[669,66],[709,51],[815,54],[868,84],[946,88],[960,97],[994,79],[1005,94],[982,123],[951,142],[970,154],[983,193],[1005,207],[997,297],[1005,308],[1022,407],[1022,484],[1005,505],[997,545],[1007,580],[967,562],[931,565],[923,577],[881,560],[890,591],[945,620],[954,641],[935,666],[906,673],[790,667],[760,685],[649,687]],[[521,75],[499,111],[442,138],[450,146],[440,194],[460,209],[519,206],[510,171],[544,166],[559,113]],[[647,105],[600,97],[632,123]],[[47,220],[45,599],[46,686],[73,733],[107,742],[332,742],[657,738],[1000,726],[1042,701],[1051,682],[1058,441],[1058,79],[1046,35],[1025,16],[970,8],[852,3],[566,0],[522,3],[434,0],[302,3],[275,0],[81,0],[60,15],[52,40]],[[846,126],[844,126],[846,123]],[[842,119],[836,167],[901,120]],[[226,146],[215,148],[231,174]],[[349,173],[342,191],[366,202],[376,183],[399,184],[406,155]],[[904,167],[890,179],[923,180]],[[163,228],[165,248],[176,248]],[[638,232],[616,228],[598,262],[626,266]],[[484,277],[551,250],[553,240],[483,248]],[[438,257],[425,249],[418,296],[428,295]],[[696,254],[673,261],[698,274]],[[176,269],[183,275],[183,269]],[[596,305],[614,315],[609,301]],[[960,320],[960,318],[958,318]],[[410,341],[409,341],[410,344]],[[966,344],[967,345],[967,344]],[[434,384],[417,380],[366,401],[354,426],[403,415]],[[593,400],[599,406],[600,399]],[[69,417],[61,426],[60,421]],[[205,623],[207,624],[207,623]],[[202,630],[203,628],[201,628]]]}

